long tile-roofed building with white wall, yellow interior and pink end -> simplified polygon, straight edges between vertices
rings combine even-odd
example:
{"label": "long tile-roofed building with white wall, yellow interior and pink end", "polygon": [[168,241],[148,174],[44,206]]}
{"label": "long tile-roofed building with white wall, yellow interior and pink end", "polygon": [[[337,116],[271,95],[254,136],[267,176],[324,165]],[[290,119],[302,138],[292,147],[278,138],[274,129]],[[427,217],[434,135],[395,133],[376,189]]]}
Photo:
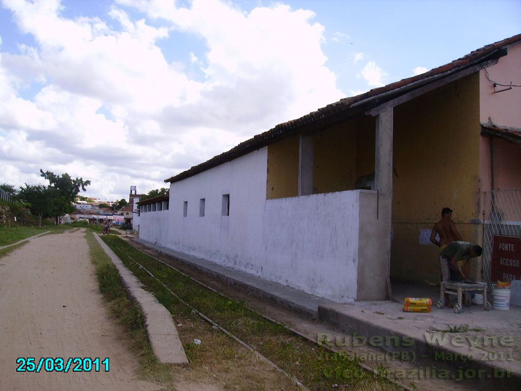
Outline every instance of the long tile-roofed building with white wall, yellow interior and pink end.
{"label": "long tile-roofed building with white wall, yellow interior and pink end", "polygon": [[521,187],[520,64],[516,35],[277,125],[166,179],[140,238],[339,302],[438,282],[442,207],[476,243],[521,226],[486,201]]}

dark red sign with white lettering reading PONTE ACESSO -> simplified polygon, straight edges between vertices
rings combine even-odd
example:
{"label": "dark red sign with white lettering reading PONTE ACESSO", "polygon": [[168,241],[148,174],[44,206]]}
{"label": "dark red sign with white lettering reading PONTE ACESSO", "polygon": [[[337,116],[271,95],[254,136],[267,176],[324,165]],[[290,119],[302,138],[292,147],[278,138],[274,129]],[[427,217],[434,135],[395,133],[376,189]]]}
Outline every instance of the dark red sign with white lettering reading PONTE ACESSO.
{"label": "dark red sign with white lettering reading PONTE ACESSO", "polygon": [[521,279],[521,237],[494,235],[490,280],[511,281]]}

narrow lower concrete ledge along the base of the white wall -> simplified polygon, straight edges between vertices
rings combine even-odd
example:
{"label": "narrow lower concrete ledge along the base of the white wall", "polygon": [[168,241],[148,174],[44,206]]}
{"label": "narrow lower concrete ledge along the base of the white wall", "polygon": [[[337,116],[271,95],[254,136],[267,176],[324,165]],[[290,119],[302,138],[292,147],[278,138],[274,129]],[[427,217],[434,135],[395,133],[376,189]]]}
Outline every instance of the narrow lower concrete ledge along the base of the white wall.
{"label": "narrow lower concrete ledge along the base of the white wall", "polygon": [[224,280],[230,285],[238,285],[257,297],[266,298],[279,303],[284,307],[300,312],[311,319],[318,319],[318,307],[321,304],[327,305],[335,303],[334,301],[308,294],[302,290],[256,277],[232,269],[231,267],[222,266],[215,262],[197,258],[193,255],[158,246],[143,239],[132,238],[132,240],[159,253],[173,256],[179,261],[189,264],[206,274]]}

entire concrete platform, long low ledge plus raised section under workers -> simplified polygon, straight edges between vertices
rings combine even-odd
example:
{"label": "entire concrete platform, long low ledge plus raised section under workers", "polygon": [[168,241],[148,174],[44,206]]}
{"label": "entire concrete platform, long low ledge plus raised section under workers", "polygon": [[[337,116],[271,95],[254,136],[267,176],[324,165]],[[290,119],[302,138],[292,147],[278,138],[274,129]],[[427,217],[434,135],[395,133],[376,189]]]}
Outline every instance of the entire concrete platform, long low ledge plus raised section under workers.
{"label": "entire concrete platform, long low ledge plus raised section under workers", "polygon": [[[398,284],[393,284],[392,301],[337,303],[142,239],[132,240],[304,316],[316,319],[318,315],[320,322],[338,331],[318,335],[325,344],[378,346],[387,360],[414,362],[425,377],[440,377],[446,371],[469,384],[469,389],[517,390],[521,384],[521,307],[485,311],[482,305],[473,305],[456,314],[451,308],[436,307],[439,287]],[[405,297],[430,298],[431,312],[403,312]]]}

